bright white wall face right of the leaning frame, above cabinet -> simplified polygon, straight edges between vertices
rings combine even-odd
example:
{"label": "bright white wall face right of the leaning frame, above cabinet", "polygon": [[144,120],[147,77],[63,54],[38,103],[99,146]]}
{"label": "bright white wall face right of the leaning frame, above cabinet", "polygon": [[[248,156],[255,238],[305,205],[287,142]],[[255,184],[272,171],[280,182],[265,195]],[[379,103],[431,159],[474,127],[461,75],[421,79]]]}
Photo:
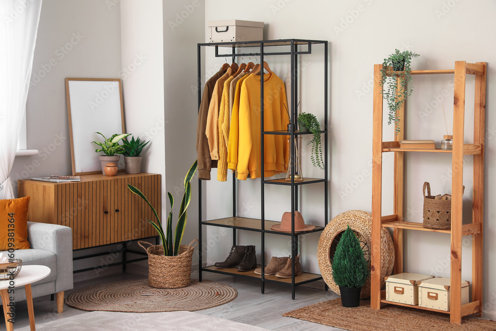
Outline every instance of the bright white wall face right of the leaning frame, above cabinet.
{"label": "bright white wall face right of the leaning frame, above cabinet", "polygon": [[[120,4],[126,132],[150,140],[141,154],[141,171],[162,175],[162,214],[166,215],[162,1]],[[146,220],[145,224],[151,226]]]}

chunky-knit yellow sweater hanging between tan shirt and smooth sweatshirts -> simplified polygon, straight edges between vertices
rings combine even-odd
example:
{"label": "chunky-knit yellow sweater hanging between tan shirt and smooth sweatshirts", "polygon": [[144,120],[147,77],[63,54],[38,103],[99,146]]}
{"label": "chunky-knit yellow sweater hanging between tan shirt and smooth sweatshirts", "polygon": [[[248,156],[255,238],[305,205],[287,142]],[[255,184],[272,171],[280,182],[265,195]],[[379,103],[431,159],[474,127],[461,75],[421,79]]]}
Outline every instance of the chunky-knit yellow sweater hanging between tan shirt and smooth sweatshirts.
{"label": "chunky-knit yellow sweater hanging between tan shirt and smooth sweatshirts", "polygon": [[225,122],[229,123],[229,89],[233,79],[234,77],[231,76],[224,82],[219,108],[219,161],[217,163],[217,180],[221,182],[227,181],[227,144],[229,133],[226,134]]}

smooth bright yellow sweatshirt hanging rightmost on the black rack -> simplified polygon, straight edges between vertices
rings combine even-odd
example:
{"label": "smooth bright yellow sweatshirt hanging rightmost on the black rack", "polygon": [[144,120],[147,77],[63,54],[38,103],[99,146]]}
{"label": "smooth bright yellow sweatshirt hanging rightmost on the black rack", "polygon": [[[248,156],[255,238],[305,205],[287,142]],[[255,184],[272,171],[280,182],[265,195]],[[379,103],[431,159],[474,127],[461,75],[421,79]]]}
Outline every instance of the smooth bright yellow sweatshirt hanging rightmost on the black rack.
{"label": "smooth bright yellow sweatshirt hanging rightmost on the black rack", "polygon": [[[287,130],[289,117],[284,82],[275,73],[264,75],[264,131]],[[264,177],[288,169],[287,135],[264,136]],[[250,74],[241,86],[238,141],[238,179],[261,177],[260,76]]]}

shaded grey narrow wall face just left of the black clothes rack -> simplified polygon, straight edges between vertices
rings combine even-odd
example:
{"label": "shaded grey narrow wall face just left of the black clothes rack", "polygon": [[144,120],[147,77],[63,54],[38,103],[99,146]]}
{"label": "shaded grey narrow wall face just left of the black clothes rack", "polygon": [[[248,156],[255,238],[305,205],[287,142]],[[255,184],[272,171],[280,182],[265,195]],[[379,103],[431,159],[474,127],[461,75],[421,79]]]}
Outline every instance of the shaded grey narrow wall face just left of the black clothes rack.
{"label": "shaded grey narrow wall face just left of the black clothes rack", "polygon": [[[166,189],[175,199],[173,213],[176,224],[184,193],[184,178],[197,157],[194,146],[198,105],[196,92],[191,87],[196,86],[196,44],[203,41],[204,3],[198,0],[164,0],[163,13]],[[196,179],[197,176],[191,182],[193,196],[187,209],[184,245],[198,238]],[[163,198],[167,199],[166,196]],[[193,255],[195,264],[196,251]]]}

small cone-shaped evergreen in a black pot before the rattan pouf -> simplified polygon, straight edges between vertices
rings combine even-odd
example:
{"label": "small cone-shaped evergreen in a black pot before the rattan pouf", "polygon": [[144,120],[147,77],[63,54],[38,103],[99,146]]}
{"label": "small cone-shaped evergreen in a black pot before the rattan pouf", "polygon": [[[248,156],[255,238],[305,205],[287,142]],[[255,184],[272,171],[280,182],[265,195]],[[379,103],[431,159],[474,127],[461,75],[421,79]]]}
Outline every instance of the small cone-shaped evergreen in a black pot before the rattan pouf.
{"label": "small cone-shaped evergreen in a black pot before the rattan pouf", "polygon": [[360,306],[360,291],[369,276],[369,268],[360,242],[349,225],[339,239],[331,267],[343,307]]}

